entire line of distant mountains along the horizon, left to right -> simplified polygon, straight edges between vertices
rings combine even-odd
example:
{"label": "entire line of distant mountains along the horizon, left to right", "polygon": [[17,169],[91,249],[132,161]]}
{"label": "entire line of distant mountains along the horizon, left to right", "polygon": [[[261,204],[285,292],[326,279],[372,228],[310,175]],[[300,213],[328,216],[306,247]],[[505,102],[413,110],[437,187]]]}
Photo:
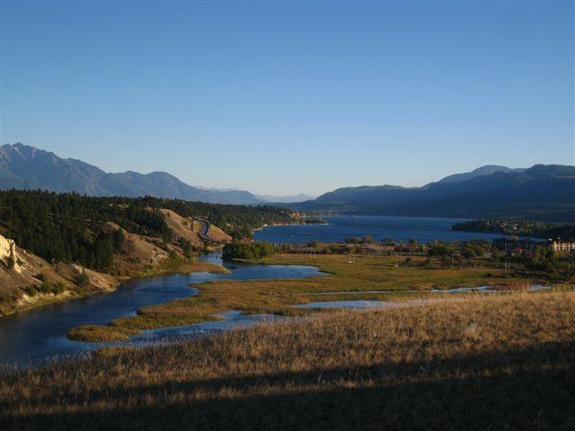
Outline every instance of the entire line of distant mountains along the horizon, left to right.
{"label": "entire line of distant mountains along the horizon, left to right", "polygon": [[355,215],[517,216],[575,223],[575,166],[564,165],[536,164],[529,169],[487,165],[423,187],[350,187],[311,199],[306,195],[261,196],[245,190],[191,187],[167,172],[108,173],[80,160],[14,144],[0,146],[0,189],[75,191],[89,196],[149,195],[219,204],[270,202],[300,211]]}

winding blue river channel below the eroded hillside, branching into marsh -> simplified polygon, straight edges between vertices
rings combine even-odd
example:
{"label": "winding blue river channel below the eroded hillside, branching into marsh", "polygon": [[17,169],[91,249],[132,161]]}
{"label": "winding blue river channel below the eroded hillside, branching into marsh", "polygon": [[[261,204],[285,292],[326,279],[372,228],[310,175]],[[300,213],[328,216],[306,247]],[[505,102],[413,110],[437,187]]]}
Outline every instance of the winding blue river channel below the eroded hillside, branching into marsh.
{"label": "winding blue river channel below the eroded hillside, branching into marsh", "polygon": [[230,270],[230,273],[200,272],[138,278],[122,283],[116,291],[110,294],[54,303],[0,319],[0,366],[43,365],[50,361],[81,357],[102,346],[146,346],[164,340],[193,338],[220,330],[242,328],[256,321],[277,319],[270,315],[246,315],[230,311],[221,314],[226,318],[223,321],[146,330],[122,343],[84,343],[66,339],[66,332],[76,326],[106,324],[119,317],[135,315],[137,309],[145,305],[167,303],[196,295],[198,289],[193,285],[217,278],[254,280],[323,275],[319,269],[314,267],[224,262],[216,253],[208,254],[203,259],[223,265]]}

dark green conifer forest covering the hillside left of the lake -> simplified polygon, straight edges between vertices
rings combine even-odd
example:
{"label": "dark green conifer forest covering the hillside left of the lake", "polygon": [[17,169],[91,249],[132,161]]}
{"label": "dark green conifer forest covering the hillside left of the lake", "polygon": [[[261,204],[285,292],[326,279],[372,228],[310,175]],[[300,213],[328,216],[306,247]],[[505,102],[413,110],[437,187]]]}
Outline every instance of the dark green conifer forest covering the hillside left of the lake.
{"label": "dark green conifer forest covering the hillside left of the lake", "polygon": [[172,232],[161,208],[181,216],[199,216],[236,236],[262,224],[285,223],[290,211],[275,207],[214,205],[160,198],[92,198],[75,193],[0,191],[0,231],[20,247],[51,262],[76,262],[108,271],[125,241],[118,224],[137,233],[170,242]]}

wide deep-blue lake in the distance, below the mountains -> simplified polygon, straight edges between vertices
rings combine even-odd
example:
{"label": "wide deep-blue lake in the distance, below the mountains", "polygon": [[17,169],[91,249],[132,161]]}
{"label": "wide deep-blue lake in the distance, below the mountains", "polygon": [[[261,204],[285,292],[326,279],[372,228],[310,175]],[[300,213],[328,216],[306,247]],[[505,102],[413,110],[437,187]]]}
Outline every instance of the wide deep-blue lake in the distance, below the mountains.
{"label": "wide deep-blue lake in the distance, below the mountains", "polygon": [[275,243],[305,243],[310,241],[341,242],[350,236],[371,236],[378,241],[393,238],[407,242],[441,240],[445,242],[493,239],[505,236],[501,233],[456,232],[451,226],[464,219],[396,216],[333,216],[323,217],[328,224],[288,224],[268,226],[254,233],[258,241]]}

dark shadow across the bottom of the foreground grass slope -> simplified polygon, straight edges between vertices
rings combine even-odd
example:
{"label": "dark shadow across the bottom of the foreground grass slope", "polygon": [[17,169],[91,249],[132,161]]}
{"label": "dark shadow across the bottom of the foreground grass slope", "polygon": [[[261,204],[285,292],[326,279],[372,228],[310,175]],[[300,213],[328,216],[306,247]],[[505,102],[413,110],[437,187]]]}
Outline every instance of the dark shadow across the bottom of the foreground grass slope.
{"label": "dark shadow across the bottom of the foreground grass slope", "polygon": [[[575,343],[429,363],[31,396],[3,429],[575,429]],[[102,403],[103,402],[103,403]],[[4,423],[4,426],[3,426]]]}

